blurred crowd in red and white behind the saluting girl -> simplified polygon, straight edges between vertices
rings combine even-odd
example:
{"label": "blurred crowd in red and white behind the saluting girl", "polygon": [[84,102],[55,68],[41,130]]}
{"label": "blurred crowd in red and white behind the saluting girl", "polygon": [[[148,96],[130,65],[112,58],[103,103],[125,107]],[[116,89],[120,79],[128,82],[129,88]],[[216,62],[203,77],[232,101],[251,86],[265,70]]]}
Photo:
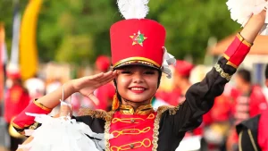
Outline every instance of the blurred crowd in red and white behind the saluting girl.
{"label": "blurred crowd in red and white behind the saluting girl", "polygon": [[[97,57],[93,74],[109,71],[111,66],[110,57],[100,55]],[[195,66],[187,61],[178,60],[172,68],[173,78],[167,79],[163,75],[162,83],[155,94],[152,104],[155,108],[160,105],[178,105],[185,101],[188,88],[205,77],[205,68]],[[29,105],[31,100],[63,85],[63,80],[57,77],[44,80],[38,75],[21,80],[20,70],[16,68],[7,69],[6,94],[4,97],[4,120],[6,130],[10,134],[11,150],[21,144],[23,138],[10,126],[13,118]],[[226,86],[222,96],[214,100],[214,107],[203,117],[203,123],[199,128],[189,131],[186,138],[198,136],[202,144],[199,150],[225,151],[235,150],[238,145],[238,135],[235,125],[247,120],[267,108],[267,93],[264,88],[252,82],[252,73],[246,69],[239,69],[233,77],[232,82]],[[194,81],[193,81],[194,80]],[[75,93],[66,101],[73,106],[73,114],[79,114],[81,107],[102,109],[109,111],[112,107],[115,88],[113,81],[96,89],[95,95],[98,100],[90,100],[87,96]],[[59,112],[59,106],[54,108],[51,115]]]}

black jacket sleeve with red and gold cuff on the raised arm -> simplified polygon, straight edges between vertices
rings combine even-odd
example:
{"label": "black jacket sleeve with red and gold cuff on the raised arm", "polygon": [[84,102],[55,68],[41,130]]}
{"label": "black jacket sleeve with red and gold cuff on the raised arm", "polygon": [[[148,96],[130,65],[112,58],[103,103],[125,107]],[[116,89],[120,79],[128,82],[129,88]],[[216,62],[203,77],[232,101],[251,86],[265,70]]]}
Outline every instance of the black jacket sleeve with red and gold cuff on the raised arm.
{"label": "black jacket sleeve with red and gold cuff on the raised arm", "polygon": [[237,71],[251,46],[238,34],[205,79],[188,88],[185,102],[175,107],[176,113],[163,113],[162,123],[171,123],[177,133],[197,128],[203,114],[213,107],[214,98],[222,95],[225,84]]}

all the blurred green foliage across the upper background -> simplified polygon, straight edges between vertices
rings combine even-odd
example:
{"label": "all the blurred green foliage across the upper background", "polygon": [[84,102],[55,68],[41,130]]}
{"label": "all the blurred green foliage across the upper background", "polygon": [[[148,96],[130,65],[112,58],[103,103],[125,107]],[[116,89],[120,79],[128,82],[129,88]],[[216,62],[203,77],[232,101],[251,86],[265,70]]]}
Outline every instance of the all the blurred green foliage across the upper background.
{"label": "all the blurred green foliage across the upper background", "polygon": [[[203,63],[209,38],[236,32],[226,0],[151,0],[148,19],[167,31],[166,48],[178,59],[190,55]],[[28,4],[21,0],[21,16]],[[0,0],[0,21],[6,28],[10,50],[13,23],[12,0]],[[122,20],[115,0],[45,0],[38,18],[38,55],[41,62],[78,65],[94,63],[97,55],[110,55],[110,26]],[[157,31],[155,31],[157,32]]]}

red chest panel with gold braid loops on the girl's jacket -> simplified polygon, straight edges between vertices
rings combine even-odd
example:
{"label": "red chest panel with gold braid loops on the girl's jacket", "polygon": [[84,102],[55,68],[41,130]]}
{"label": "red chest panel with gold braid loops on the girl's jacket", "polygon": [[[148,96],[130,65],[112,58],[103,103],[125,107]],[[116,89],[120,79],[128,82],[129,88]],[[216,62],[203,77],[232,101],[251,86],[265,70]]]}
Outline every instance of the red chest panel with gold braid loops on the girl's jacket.
{"label": "red chest panel with gold braid loops on the girl's jacket", "polygon": [[109,140],[110,150],[151,151],[155,115],[156,112],[147,115],[114,113],[109,131],[114,137]]}

